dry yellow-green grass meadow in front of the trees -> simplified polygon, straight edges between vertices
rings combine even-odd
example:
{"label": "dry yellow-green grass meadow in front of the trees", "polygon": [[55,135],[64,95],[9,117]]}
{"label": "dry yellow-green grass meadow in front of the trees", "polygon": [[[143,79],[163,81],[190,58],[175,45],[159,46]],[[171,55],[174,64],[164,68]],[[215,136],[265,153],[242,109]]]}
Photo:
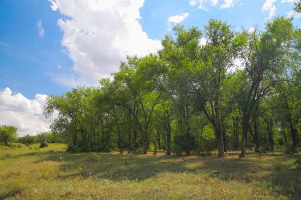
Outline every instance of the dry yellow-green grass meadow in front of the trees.
{"label": "dry yellow-green grass meadow in front of the trees", "polygon": [[[17,144],[18,145],[18,144]],[[301,154],[227,158],[69,153],[0,145],[0,199],[298,199]]]}

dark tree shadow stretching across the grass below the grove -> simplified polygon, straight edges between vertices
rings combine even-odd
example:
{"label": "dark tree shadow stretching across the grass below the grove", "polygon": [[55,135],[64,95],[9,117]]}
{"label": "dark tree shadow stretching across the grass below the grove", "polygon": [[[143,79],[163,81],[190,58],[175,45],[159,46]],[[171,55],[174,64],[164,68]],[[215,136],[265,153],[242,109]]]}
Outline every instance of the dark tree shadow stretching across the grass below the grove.
{"label": "dark tree shadow stretching across the grass below the grove", "polygon": [[286,196],[301,195],[301,170],[290,163],[291,160],[301,158],[299,154],[248,152],[246,159],[237,158],[238,152],[228,152],[228,158],[220,159],[213,156],[167,156],[163,153],[159,155],[94,153],[94,158],[91,159],[91,154],[53,151],[44,153],[36,162],[61,162],[60,173],[54,177],[56,179],[94,176],[116,181],[141,181],[156,178],[162,173],[168,175],[186,172],[203,175],[205,178],[217,177],[224,181],[255,182],[258,187],[271,187],[275,192]]}

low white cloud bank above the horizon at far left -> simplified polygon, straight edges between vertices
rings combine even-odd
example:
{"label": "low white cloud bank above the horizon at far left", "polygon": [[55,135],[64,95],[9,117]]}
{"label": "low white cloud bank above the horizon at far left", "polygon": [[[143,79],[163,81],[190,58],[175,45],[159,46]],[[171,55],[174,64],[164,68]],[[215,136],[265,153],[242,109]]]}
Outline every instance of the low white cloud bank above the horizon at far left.
{"label": "low white cloud bank above the horizon at far left", "polygon": [[43,115],[47,95],[36,94],[28,99],[21,93],[12,95],[9,87],[0,91],[0,124],[15,125],[19,136],[48,131],[52,119]]}

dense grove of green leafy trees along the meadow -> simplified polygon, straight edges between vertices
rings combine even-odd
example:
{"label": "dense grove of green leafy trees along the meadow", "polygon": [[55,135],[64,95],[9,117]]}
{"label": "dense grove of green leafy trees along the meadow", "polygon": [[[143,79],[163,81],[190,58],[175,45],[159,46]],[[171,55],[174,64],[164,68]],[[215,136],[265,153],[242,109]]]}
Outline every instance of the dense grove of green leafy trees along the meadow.
{"label": "dense grove of green leafy trees along the meadow", "polygon": [[[200,44],[200,38],[206,44]],[[286,145],[301,131],[301,32],[275,17],[241,32],[216,19],[173,27],[163,48],[128,56],[112,79],[50,95],[44,114],[71,151],[186,155]]]}

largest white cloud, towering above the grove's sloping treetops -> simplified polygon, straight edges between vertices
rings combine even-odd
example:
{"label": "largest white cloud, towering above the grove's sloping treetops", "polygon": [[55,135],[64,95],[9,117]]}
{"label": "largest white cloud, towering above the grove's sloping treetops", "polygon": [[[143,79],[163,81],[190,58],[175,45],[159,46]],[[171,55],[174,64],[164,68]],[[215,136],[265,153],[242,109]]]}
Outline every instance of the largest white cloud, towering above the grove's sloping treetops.
{"label": "largest white cloud, towering above the grove's sloping treetops", "polygon": [[51,2],[67,16],[57,22],[64,32],[61,44],[82,81],[96,82],[118,71],[120,60],[125,60],[126,55],[142,56],[162,47],[161,41],[148,38],[139,24],[139,8],[144,0]]}

